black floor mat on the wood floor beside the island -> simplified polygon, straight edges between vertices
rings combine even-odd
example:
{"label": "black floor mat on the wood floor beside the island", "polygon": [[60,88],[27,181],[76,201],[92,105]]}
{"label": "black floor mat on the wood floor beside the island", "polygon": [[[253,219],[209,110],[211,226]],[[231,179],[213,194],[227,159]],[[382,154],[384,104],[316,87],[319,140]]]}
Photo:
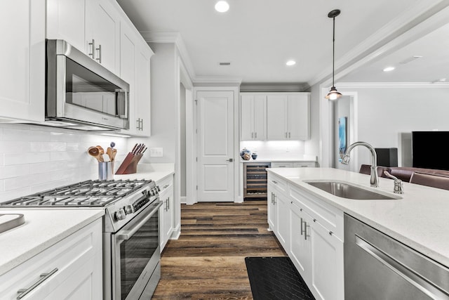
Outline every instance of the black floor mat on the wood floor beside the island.
{"label": "black floor mat on the wood floor beside the island", "polygon": [[245,262],[254,300],[315,299],[287,256],[246,257]]}

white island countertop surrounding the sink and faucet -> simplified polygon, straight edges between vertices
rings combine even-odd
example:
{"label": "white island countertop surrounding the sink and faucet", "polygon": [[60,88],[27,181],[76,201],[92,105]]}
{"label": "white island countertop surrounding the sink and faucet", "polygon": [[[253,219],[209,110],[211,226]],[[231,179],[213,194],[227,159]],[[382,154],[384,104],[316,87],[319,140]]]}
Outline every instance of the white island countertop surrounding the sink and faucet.
{"label": "white island countertop surrounding the sink and faucet", "polygon": [[[379,178],[370,188],[370,176],[332,168],[267,169],[299,188],[320,197],[374,228],[449,267],[449,190],[403,183],[404,194],[393,193],[394,182]],[[363,188],[400,196],[399,200],[350,200],[304,183],[305,180],[347,181]]]}

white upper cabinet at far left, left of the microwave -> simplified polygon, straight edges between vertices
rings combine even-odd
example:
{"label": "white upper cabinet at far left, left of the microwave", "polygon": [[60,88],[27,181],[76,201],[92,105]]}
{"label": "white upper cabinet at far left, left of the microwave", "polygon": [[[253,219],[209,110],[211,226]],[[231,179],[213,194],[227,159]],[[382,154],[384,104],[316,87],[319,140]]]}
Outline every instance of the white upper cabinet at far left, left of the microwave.
{"label": "white upper cabinet at far left, left of the microwave", "polygon": [[44,119],[45,9],[45,0],[2,1],[1,122]]}

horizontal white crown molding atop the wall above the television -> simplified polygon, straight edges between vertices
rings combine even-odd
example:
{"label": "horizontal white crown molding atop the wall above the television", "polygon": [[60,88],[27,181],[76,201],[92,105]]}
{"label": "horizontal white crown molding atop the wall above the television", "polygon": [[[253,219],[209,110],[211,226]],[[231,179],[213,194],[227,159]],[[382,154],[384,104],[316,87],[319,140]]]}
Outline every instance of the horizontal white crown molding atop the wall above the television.
{"label": "horizontal white crown molding atop the wall above the television", "polygon": [[339,82],[338,89],[449,89],[449,82]]}

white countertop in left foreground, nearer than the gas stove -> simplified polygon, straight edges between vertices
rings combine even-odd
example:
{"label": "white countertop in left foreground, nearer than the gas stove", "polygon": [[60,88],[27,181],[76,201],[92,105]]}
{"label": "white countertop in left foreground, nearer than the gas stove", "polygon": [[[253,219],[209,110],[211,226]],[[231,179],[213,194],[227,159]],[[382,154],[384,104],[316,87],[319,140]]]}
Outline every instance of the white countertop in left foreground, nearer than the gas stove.
{"label": "white countertop in left foreground, nearer than the gas stove", "polygon": [[99,219],[102,209],[1,209],[0,214],[23,214],[25,223],[0,233],[0,275],[31,259]]}

